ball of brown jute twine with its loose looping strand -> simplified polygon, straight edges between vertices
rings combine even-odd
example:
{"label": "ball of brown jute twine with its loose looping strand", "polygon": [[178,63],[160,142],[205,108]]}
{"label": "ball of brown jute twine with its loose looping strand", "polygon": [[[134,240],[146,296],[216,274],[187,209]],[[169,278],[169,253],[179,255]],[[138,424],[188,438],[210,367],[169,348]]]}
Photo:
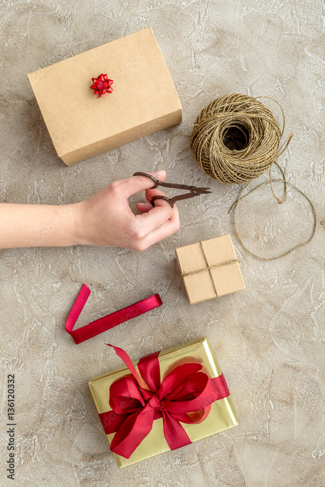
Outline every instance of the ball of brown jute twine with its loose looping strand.
{"label": "ball of brown jute twine with its loose looping strand", "polygon": [[[282,130],[273,113],[257,98],[270,98],[279,105],[283,115]],[[238,240],[243,247],[257,259],[271,261],[289,254],[292,250],[306,245],[312,240],[316,231],[316,211],[306,194],[287,181],[283,169],[276,162],[287,149],[293,136],[293,133],[290,133],[286,141],[279,147],[285,129],[285,114],[280,103],[270,96],[258,96],[257,98],[235,93],[213,100],[195,120],[190,148],[200,169],[210,178],[227,185],[249,184],[250,181],[269,169],[269,181],[258,185],[242,196],[247,184],[229,212],[232,208],[234,209],[233,224]],[[283,179],[271,177],[273,163],[280,169]],[[274,193],[272,183],[277,181],[284,183],[285,197],[283,199]],[[279,204],[284,203],[287,199],[287,185],[297,189],[310,203],[315,222],[313,233],[307,242],[296,245],[284,254],[270,258],[255,255],[243,244],[235,222],[239,201],[265,184],[270,184],[272,194]]]}

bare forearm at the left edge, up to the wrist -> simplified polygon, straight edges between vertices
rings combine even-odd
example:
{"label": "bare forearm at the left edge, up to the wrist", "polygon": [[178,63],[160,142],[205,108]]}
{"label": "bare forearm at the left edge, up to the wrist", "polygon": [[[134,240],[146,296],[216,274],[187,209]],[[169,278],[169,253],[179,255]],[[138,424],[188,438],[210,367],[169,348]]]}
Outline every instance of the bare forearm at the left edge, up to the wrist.
{"label": "bare forearm at the left edge, up to the wrist", "polygon": [[0,204],[0,248],[68,246],[76,236],[75,205]]}

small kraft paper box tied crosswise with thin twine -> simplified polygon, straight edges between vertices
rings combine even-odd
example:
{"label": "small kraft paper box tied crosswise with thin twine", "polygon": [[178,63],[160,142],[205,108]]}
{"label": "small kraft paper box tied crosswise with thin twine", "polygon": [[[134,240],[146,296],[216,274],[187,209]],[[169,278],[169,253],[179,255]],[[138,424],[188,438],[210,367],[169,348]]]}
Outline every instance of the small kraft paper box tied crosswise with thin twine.
{"label": "small kraft paper box tied crosswise with thin twine", "polygon": [[190,304],[245,289],[230,235],[175,249]]}

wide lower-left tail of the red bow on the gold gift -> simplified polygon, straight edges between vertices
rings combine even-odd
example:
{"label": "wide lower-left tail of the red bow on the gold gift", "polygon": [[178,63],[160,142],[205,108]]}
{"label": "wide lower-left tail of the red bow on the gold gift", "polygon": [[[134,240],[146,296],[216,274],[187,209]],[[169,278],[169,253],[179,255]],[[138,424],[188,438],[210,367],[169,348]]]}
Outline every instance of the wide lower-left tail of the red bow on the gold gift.
{"label": "wide lower-left tail of the red bow on the gold gift", "polygon": [[130,458],[141,441],[153,427],[155,410],[147,405],[139,412],[134,412],[116,431],[111,443],[111,450],[124,458]]}

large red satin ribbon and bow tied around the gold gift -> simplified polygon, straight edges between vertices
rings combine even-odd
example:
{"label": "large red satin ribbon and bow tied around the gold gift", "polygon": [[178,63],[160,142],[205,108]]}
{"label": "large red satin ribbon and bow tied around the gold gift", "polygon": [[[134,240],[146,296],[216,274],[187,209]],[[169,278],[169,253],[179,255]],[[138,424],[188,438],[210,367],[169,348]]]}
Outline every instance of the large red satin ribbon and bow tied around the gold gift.
{"label": "large red satin ribbon and bow tied around the gold gift", "polygon": [[[108,344],[107,344],[108,345]],[[153,421],[163,418],[164,434],[171,450],[189,445],[191,440],[180,424],[198,424],[205,420],[210,405],[229,396],[223,375],[210,377],[200,372],[199,363],[179,365],[160,383],[159,352],[140,358],[136,375],[131,358],[121,348],[113,347],[130,370],[110,387],[112,411],[99,414],[106,434],[115,433],[111,450],[130,458],[153,427]],[[140,381],[142,384],[140,384]],[[144,387],[144,386],[147,387]]]}

